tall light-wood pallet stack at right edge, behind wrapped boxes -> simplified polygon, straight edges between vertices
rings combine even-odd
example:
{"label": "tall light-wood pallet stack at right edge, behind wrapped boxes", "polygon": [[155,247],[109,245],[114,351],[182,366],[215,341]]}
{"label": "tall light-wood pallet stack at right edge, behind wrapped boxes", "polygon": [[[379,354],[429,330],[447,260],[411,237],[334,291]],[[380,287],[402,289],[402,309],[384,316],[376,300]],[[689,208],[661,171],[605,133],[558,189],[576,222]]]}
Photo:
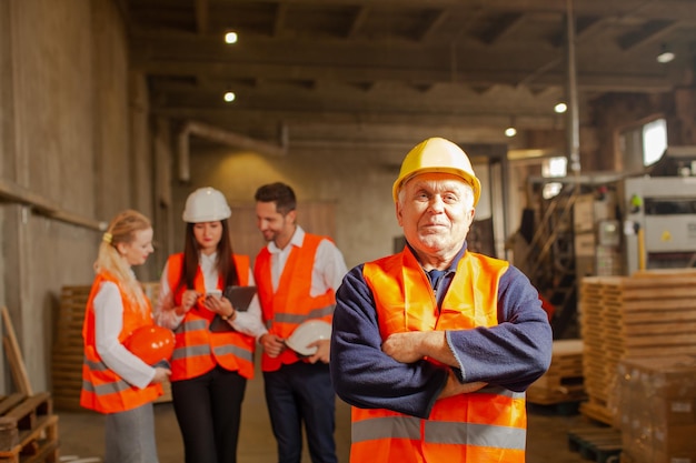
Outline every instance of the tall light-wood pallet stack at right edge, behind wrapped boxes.
{"label": "tall light-wood pallet stack at right edge, behind wrapped boxes", "polygon": [[619,361],[696,354],[695,301],[693,270],[583,279],[579,308],[588,401],[580,412],[613,424]]}

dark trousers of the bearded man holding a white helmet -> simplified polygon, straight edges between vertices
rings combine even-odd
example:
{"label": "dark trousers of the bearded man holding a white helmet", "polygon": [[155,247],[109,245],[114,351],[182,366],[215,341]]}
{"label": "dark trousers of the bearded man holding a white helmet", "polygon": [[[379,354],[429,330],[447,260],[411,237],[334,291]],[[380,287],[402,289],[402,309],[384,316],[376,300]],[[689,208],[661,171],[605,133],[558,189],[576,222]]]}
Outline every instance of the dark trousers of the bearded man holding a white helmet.
{"label": "dark trousers of the bearded man holding a white helmet", "polygon": [[336,393],[326,363],[296,362],[264,372],[266,404],[278,443],[279,463],[299,463],[302,423],[312,463],[337,463]]}

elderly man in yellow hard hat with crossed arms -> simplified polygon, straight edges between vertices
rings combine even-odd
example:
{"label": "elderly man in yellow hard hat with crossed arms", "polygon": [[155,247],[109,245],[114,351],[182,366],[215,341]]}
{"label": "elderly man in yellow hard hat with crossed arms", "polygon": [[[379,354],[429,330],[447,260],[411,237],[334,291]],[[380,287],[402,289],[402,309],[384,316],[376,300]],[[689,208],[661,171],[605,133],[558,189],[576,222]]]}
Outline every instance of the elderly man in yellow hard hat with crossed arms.
{"label": "elderly man in yellow hard hat with crossed arms", "polygon": [[525,461],[524,391],[551,330],[519,270],[467,250],[479,195],[458,145],[415,147],[394,183],[406,248],[337,293],[331,380],[354,405],[354,463]]}

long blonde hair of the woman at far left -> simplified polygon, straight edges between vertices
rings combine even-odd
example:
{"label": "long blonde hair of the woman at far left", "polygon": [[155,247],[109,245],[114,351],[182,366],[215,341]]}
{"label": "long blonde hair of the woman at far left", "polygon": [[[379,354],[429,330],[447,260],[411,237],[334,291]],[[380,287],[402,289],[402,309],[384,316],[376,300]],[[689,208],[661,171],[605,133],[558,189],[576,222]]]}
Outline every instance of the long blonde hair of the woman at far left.
{"label": "long blonde hair of the woman at far left", "polygon": [[140,282],[130,270],[130,265],[119,254],[119,243],[131,243],[136,232],[151,229],[150,220],[138,211],[126,210],[117,214],[109,223],[99,244],[99,255],[95,262],[97,273],[107,271],[116,276],[130,299],[141,311],[147,308],[147,301]]}

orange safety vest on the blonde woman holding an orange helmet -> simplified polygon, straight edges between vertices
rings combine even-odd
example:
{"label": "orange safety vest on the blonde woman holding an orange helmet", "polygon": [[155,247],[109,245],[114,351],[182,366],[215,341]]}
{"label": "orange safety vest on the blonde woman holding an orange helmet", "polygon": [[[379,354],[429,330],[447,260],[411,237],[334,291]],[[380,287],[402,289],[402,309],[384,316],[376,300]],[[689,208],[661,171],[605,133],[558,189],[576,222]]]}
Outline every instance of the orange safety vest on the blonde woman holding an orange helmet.
{"label": "orange safety vest on the blonde woman holding an orange helmet", "polygon": [[143,325],[153,324],[150,301],[147,300],[145,313],[126,295],[119,280],[109,272],[101,271],[95,278],[92,289],[87,300],[82,338],[84,340],[84,360],[82,362],[82,390],[80,405],[100,413],[117,413],[137,409],[152,402],[162,395],[161,384],[150,384],[138,389],[128,384],[121,376],[109,369],[97,352],[95,335],[95,296],[102,282],[116,283],[123,301],[123,326],[119,333],[119,341],[123,342],[130,333]]}

